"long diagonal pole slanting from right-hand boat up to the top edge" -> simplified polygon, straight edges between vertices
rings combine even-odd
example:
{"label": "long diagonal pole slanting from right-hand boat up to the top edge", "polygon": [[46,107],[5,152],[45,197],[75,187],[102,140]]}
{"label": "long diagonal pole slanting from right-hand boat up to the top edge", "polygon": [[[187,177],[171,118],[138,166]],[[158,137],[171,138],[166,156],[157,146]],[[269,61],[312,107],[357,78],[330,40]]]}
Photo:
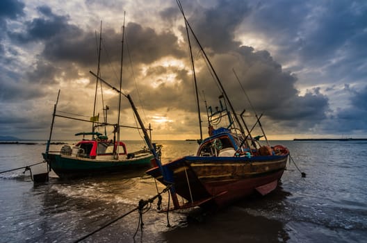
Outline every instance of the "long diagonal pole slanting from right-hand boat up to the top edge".
{"label": "long diagonal pole slanting from right-hand boat up to the top edge", "polygon": [[225,96],[225,99],[227,100],[229,107],[231,108],[234,118],[236,119],[236,122],[238,124],[238,126],[240,127],[240,132],[243,134],[243,136],[245,136],[245,130],[243,129],[243,126],[240,123],[240,119],[238,118],[238,115],[236,114],[236,111],[234,110],[234,107],[232,106],[231,101],[229,100],[229,97],[227,95],[227,93],[225,92],[225,88],[223,87],[222,83],[220,82],[220,78],[218,77],[218,74],[215,72],[215,69],[213,67],[213,65],[211,65],[211,61],[209,60],[208,56],[206,56],[206,52],[204,51],[204,48],[202,47],[202,44],[200,44],[199,40],[197,39],[193,28],[191,28],[190,23],[188,22],[188,20],[186,19],[185,13],[183,12],[183,8],[181,6],[181,2],[179,0],[176,0],[177,4],[179,6],[179,9],[183,15],[183,19],[185,19],[185,23],[187,24],[188,28],[190,28],[191,33],[193,34],[193,37],[195,38],[197,44],[199,45],[202,53],[204,54],[204,57],[206,59],[206,61],[209,63],[209,66],[211,67],[211,70],[213,71],[213,74],[215,75],[215,79],[217,80],[218,84],[220,85],[220,89],[222,90],[223,95]]}

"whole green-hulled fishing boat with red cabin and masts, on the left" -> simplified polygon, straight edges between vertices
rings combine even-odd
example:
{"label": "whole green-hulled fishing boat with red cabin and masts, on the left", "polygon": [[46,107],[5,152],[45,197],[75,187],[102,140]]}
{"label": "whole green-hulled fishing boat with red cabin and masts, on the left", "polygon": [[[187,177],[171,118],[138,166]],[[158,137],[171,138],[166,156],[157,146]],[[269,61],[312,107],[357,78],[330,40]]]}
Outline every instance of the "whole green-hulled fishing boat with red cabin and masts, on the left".
{"label": "whole green-hulled fishing boat with red cabin and masts, on the left", "polygon": [[[122,40],[123,38],[124,34],[122,34]],[[100,50],[101,50],[101,37],[99,41],[98,60],[100,59]],[[161,148],[160,147],[157,148],[152,143],[148,144],[149,149],[143,148],[138,151],[128,152],[126,144],[120,141],[120,128],[122,127],[141,129],[145,134],[147,134],[147,129],[144,128],[142,122],[140,122],[140,127],[120,125],[120,107],[121,107],[122,95],[127,99],[129,99],[131,107],[133,108],[133,112],[135,112],[136,117],[139,117],[138,112],[135,106],[133,105],[131,97],[121,92],[122,63],[121,63],[119,90],[111,86],[109,83],[107,83],[100,77],[99,62],[97,70],[98,70],[97,74],[90,72],[93,76],[97,78],[96,82],[97,84],[96,84],[93,115],[92,117],[90,117],[89,120],[83,120],[76,117],[67,117],[64,115],[59,115],[58,112],[56,112],[60,90],[58,92],[57,101],[56,104],[54,105],[54,113],[52,117],[49,140],[47,142],[46,151],[42,153],[42,156],[44,160],[48,163],[49,169],[52,169],[60,178],[75,178],[81,176],[100,175],[100,174],[106,174],[106,172],[107,173],[129,172],[140,168],[147,169],[147,167],[151,167],[152,158],[154,158],[154,156],[156,157],[159,156]],[[109,110],[108,106],[103,108],[104,121],[99,122],[99,114],[96,115],[97,114],[96,98],[99,83],[100,85],[104,84],[107,85],[108,87],[111,87],[113,90],[117,91],[120,94],[120,99],[118,103],[117,124],[108,123],[107,121],[107,111]],[[60,151],[49,151],[55,117],[63,117],[67,119],[75,119],[78,121],[90,122],[92,123],[92,131],[90,133],[76,133],[76,135],[83,135],[83,139],[81,139],[74,145],[66,144],[60,149]],[[106,127],[108,126],[113,127],[113,139],[108,139],[106,135]],[[101,127],[104,127],[104,134],[97,132],[97,129]],[[91,136],[90,139],[85,139],[85,135],[90,135]]]}

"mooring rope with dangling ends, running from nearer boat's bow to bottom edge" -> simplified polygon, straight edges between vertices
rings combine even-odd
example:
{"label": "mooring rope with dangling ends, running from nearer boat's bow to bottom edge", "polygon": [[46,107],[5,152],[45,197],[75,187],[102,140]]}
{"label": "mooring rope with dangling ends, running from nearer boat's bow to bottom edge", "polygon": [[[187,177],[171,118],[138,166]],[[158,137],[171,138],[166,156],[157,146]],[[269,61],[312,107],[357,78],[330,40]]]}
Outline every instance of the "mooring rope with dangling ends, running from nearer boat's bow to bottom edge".
{"label": "mooring rope with dangling ends, running from nearer boat's bow to bottom edge", "polygon": [[[116,221],[119,221],[123,217],[126,217],[127,215],[131,214],[131,212],[135,212],[136,210],[139,210],[139,221],[138,221],[138,228],[136,230],[136,233],[138,232],[138,230],[140,228],[140,231],[141,231],[141,234],[142,234],[142,228],[144,226],[144,224],[142,222],[142,214],[144,214],[145,212],[150,210],[150,208],[152,206],[152,203],[157,198],[158,198],[158,210],[160,210],[161,201],[162,201],[161,194],[167,192],[170,189],[171,186],[172,185],[168,185],[167,187],[165,187],[165,189],[162,190],[162,192],[158,192],[158,194],[156,194],[155,196],[153,196],[150,199],[147,199],[147,200],[140,199],[139,205],[136,208],[133,208],[129,212],[125,213],[124,215],[121,215],[120,217],[117,217],[116,219],[113,219],[112,221],[109,221],[108,223],[104,224],[104,226],[101,226],[101,227],[97,228],[95,231],[92,231],[91,233],[88,233],[88,235],[85,235],[85,236],[79,238],[78,240],[76,240],[74,242],[81,242],[82,240],[85,240],[86,238],[90,237],[91,235],[94,235],[95,233],[103,230],[107,226],[110,226],[111,224],[115,223]],[[136,233],[133,235],[134,242],[135,242]],[[142,240],[142,237],[141,237],[141,240]]]}

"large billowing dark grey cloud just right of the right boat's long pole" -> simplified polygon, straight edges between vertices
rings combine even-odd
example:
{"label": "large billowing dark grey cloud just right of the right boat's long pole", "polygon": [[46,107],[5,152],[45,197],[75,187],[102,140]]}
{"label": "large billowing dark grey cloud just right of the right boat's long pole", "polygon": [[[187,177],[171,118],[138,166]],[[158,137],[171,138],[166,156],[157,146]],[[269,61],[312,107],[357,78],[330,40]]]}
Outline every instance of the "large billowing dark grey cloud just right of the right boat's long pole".
{"label": "large billowing dark grey cloud just right of the right boat's long pole", "polygon": [[[328,101],[318,89],[300,96],[295,89],[297,78],[284,72],[267,52],[247,53],[243,58],[244,61],[239,62],[242,66],[238,65],[237,68],[238,75],[242,77],[242,86],[256,110],[264,112],[275,121],[294,121],[294,126],[297,126],[299,119],[312,121],[309,126],[325,119],[329,109]],[[236,82],[232,83],[233,90],[238,90]],[[250,108],[243,93],[236,94],[236,99],[244,101],[247,108]]]}

